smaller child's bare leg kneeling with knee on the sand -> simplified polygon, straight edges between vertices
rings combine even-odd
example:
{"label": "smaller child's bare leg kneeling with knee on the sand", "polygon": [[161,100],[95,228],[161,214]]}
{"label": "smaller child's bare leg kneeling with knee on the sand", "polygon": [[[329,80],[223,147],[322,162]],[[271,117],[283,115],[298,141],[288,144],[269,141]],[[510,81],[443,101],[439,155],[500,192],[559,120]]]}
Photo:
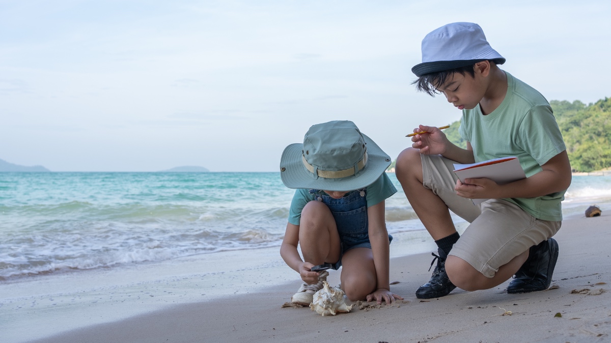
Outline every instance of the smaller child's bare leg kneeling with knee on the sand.
{"label": "smaller child's bare leg kneeling with knee on the sand", "polygon": [[370,248],[353,248],[342,256],[342,289],[351,301],[365,300],[378,283]]}

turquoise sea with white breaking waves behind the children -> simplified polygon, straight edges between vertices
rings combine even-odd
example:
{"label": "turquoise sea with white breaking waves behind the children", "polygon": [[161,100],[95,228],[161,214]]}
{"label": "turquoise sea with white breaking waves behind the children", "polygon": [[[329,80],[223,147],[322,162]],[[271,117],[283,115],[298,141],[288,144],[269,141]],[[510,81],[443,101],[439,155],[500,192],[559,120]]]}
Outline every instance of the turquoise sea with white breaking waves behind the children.
{"label": "turquoise sea with white breaking waves behind the children", "polygon": [[[399,192],[389,233],[422,230]],[[0,281],[279,246],[293,190],[279,173],[0,173]],[[575,176],[565,215],[611,203],[611,176]]]}

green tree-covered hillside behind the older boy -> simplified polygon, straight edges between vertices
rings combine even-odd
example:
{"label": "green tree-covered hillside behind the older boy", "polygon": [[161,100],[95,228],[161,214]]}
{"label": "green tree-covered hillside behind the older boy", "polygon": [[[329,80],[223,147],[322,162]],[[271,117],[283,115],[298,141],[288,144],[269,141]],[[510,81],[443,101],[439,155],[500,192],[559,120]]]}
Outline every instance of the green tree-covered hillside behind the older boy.
{"label": "green tree-covered hillside behind the older boy", "polygon": [[[585,105],[579,100],[550,102],[565,139],[566,151],[574,171],[593,171],[611,167],[611,98]],[[444,133],[462,148],[467,143],[458,134],[460,121]]]}

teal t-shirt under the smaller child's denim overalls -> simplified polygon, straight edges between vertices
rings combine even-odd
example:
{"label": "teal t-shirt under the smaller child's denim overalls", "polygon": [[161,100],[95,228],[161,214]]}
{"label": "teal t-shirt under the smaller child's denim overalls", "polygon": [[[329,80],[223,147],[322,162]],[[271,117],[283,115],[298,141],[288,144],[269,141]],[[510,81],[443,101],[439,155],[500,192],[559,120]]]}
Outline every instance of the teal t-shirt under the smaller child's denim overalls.
{"label": "teal t-shirt under the smaller child's denim overalls", "polygon": [[[347,197],[353,192],[356,192],[356,190],[351,190],[346,193],[344,197]],[[392,181],[390,181],[386,173],[382,173],[375,182],[367,186],[367,196],[365,197],[367,199],[367,208],[379,204],[382,200],[390,198],[394,193],[397,193],[395,185],[392,184]],[[299,225],[302,209],[305,204],[312,200],[315,200],[315,198],[313,194],[309,193],[309,189],[296,189],[295,195],[293,195],[293,201],[291,201],[291,208],[288,212],[288,222]]]}

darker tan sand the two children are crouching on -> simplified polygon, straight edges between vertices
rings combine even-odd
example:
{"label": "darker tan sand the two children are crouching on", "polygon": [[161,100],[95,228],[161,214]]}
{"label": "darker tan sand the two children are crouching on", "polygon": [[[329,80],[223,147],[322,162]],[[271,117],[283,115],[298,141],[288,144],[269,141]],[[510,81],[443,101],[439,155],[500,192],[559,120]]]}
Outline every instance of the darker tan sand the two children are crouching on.
{"label": "darker tan sand the two children are crouching on", "polygon": [[[309,308],[282,308],[299,286],[295,280],[249,294],[166,306],[36,342],[606,342],[611,334],[610,226],[605,212],[565,220],[555,236],[560,257],[554,281],[543,292],[507,294],[505,283],[421,301],[414,291],[430,276],[431,255],[420,253],[392,259],[390,279],[398,281],[392,291],[404,297],[392,306],[357,304],[348,314],[326,317]],[[329,281],[337,284],[338,273]]]}

